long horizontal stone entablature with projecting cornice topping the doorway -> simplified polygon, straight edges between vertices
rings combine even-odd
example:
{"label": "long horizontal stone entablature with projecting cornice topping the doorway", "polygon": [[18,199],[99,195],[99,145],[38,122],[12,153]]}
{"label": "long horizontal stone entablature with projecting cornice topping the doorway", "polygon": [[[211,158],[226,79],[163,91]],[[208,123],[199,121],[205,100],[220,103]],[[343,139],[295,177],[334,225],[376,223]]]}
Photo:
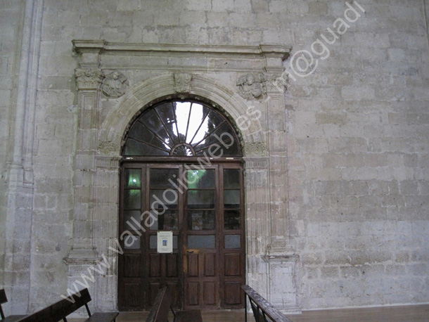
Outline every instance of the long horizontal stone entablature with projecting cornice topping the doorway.
{"label": "long horizontal stone entablature with projecting cornice topping the doorway", "polygon": [[[210,45],[185,45],[185,44],[124,44],[113,43],[105,40],[73,40],[74,51],[81,56],[81,67],[98,67],[100,57],[103,56],[103,67],[126,68],[134,65],[136,68],[157,70],[183,70],[184,65],[177,66],[159,63],[162,57],[192,57],[202,59],[200,65],[195,62],[187,65],[188,70],[201,70],[207,66],[211,70],[242,70],[250,71],[262,69],[264,71],[282,71],[283,60],[288,58],[292,47],[261,44],[260,46],[210,46]],[[115,56],[132,56],[132,60],[115,60]],[[155,57],[157,62],[151,60],[139,60],[139,56],[148,58]],[[224,63],[224,60],[230,63]],[[244,60],[249,60],[247,66]],[[260,64],[255,65],[255,61]],[[208,63],[207,63],[208,62]]]}

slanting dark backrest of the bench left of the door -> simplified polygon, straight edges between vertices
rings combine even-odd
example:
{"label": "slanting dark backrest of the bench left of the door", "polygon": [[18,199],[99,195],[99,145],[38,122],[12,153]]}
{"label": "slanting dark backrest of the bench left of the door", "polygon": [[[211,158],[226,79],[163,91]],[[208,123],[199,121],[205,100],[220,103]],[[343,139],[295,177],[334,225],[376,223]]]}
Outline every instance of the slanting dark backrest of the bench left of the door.
{"label": "slanting dark backrest of the bench left of the door", "polygon": [[87,312],[89,316],[91,316],[91,312],[89,311],[87,305],[87,303],[90,301],[91,296],[89,295],[89,290],[85,288],[84,290],[70,295],[67,299],[60,300],[54,304],[49,305],[49,307],[45,307],[40,311],[20,319],[19,322],[58,322],[83,306],[87,308]]}

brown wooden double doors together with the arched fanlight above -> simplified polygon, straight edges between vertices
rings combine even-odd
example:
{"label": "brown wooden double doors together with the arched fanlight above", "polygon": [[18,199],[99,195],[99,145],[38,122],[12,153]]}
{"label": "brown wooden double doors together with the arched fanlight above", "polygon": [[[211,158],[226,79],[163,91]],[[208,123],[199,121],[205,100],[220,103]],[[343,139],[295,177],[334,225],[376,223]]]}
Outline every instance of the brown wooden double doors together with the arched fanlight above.
{"label": "brown wooden double doors together with the arched fanlight above", "polygon": [[148,309],[164,286],[177,307],[243,307],[242,153],[222,112],[178,100],[143,110],[124,136],[120,192],[120,310]]}

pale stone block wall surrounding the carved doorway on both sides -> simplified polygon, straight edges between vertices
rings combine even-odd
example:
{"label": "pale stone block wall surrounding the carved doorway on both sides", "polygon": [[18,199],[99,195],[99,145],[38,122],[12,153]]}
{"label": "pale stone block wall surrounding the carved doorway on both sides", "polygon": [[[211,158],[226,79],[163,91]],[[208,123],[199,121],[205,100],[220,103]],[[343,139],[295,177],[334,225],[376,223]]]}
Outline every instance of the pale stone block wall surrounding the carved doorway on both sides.
{"label": "pale stone block wall surrounding the carved doorway on both sides", "polygon": [[[326,45],[327,56],[321,44],[312,44],[321,34],[332,39],[326,28],[336,30],[335,19],[344,19],[344,1],[44,0],[34,128],[30,310],[58,300],[67,283],[62,259],[72,242],[78,117],[72,39],[284,44],[293,46],[293,53],[319,52],[312,53],[317,67],[307,77],[294,74],[291,58],[285,62],[291,73],[285,108],[285,198],[290,242],[300,255],[299,304],[314,309],[429,302],[428,37],[423,1],[358,2],[366,13],[349,22],[350,28],[334,44]],[[7,31],[0,35],[1,176],[13,144],[15,103],[9,98],[15,83],[9,79],[18,58],[20,5],[23,1],[0,4],[0,26]],[[309,65],[314,67],[314,62]],[[1,251],[3,177],[0,185]],[[0,257],[0,268],[4,265]]]}

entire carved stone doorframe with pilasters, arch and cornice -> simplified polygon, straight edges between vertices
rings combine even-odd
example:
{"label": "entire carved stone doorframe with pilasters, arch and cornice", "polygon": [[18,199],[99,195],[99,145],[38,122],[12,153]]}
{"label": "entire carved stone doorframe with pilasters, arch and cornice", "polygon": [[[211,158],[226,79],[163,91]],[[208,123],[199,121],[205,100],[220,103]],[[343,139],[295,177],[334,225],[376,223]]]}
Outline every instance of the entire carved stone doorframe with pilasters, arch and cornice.
{"label": "entire carved stone doorframe with pilasters, arch and cornice", "polygon": [[[283,311],[300,311],[297,256],[288,243],[287,46],[185,46],[73,41],[80,120],[69,288],[96,274],[97,309],[117,307],[117,220],[122,139],[143,108],[163,98],[210,101],[241,136],[245,160],[247,283]],[[278,287],[284,285],[284,287]],[[281,300],[283,299],[283,300]]]}

